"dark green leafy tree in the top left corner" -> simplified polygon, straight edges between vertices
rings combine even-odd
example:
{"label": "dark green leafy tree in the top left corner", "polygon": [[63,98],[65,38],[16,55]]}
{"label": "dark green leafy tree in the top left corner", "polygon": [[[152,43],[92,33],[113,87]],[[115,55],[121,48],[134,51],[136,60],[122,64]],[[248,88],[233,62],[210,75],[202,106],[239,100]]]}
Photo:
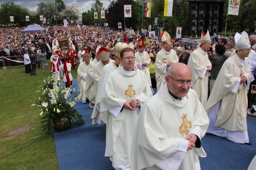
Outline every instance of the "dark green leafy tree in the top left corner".
{"label": "dark green leafy tree in the top left corner", "polygon": [[26,26],[26,16],[28,16],[28,8],[22,8],[14,2],[4,2],[0,8],[0,23],[8,25],[10,23],[10,16],[14,16],[12,24]]}

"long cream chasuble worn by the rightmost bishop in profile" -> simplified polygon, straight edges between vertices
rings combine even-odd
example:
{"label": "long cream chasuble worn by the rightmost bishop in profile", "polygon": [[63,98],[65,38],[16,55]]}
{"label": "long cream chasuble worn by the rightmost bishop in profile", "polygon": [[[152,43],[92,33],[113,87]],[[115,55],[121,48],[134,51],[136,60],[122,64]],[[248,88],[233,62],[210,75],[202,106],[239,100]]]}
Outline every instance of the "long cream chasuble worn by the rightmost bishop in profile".
{"label": "long cream chasuble worn by the rightmost bishop in profile", "polygon": [[[223,64],[209,100],[205,106],[205,110],[210,114],[214,111],[217,116],[214,120],[210,119],[210,127],[220,127],[230,132],[247,131],[246,115],[247,115],[247,94],[246,83],[238,83],[239,86],[234,91],[234,86],[238,82],[240,74],[248,76],[247,82],[250,83],[252,74],[250,72],[250,65],[245,59],[244,64],[241,64],[238,55],[230,56]],[[214,106],[218,106],[217,108]],[[208,132],[208,131],[207,131]],[[209,133],[214,133],[209,131]],[[220,136],[220,134],[216,134]],[[227,137],[228,138],[228,137]],[[234,141],[236,143],[242,143]],[[244,142],[243,142],[244,143]]]}

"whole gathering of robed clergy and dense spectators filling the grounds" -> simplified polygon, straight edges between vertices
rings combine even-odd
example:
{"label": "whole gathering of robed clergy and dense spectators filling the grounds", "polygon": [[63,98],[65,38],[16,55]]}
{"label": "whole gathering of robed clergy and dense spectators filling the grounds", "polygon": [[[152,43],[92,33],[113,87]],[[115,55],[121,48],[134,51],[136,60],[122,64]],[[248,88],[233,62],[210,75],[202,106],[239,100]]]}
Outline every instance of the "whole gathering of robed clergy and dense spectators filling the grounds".
{"label": "whole gathering of robed clergy and dense spectators filling the grounds", "polygon": [[[92,125],[106,124],[105,156],[116,170],[200,169],[205,133],[252,145],[246,114],[256,35],[244,31],[212,44],[202,32],[193,47],[166,31],[147,37],[150,44],[137,32],[92,26],[49,27],[47,34],[0,31],[1,51],[23,57],[26,73],[36,75],[36,61],[44,69],[45,54],[52,76],[70,87],[70,71],[80,63],[82,102],[93,109]],[[70,47],[65,53],[58,44],[63,34]]]}

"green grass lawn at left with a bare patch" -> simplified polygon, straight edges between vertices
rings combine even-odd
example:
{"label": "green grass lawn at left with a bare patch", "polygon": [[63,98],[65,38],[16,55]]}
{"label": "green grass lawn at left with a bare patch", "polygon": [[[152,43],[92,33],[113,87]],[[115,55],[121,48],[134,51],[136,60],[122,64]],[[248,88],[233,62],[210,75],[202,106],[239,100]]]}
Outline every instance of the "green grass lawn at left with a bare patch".
{"label": "green grass lawn at left with a bare patch", "polygon": [[[25,68],[0,68],[0,169],[30,170],[58,169],[54,139],[44,135],[41,128],[40,109],[30,102],[40,94],[36,92],[50,72],[50,61],[45,70],[36,69],[36,76],[25,74]],[[77,77],[77,68],[72,70]],[[32,129],[23,135],[8,132],[24,126]]]}

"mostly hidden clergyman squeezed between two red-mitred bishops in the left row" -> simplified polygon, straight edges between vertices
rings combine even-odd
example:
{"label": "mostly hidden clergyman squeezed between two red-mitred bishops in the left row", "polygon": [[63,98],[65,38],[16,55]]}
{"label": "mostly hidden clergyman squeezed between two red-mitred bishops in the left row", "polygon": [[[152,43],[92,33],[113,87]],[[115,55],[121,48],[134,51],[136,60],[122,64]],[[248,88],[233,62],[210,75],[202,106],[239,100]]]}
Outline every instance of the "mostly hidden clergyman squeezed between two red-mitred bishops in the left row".
{"label": "mostly hidden clergyman squeezed between two red-mitred bishops in the left row", "polygon": [[93,109],[95,102],[96,102],[96,89],[94,86],[94,66],[96,63],[100,61],[100,58],[97,57],[98,50],[100,49],[100,46],[97,47],[95,52],[95,58],[92,62],[89,64],[88,73],[87,73],[87,79],[86,79],[86,86],[85,86],[85,93],[88,95],[88,100],[90,101],[90,108]]}

